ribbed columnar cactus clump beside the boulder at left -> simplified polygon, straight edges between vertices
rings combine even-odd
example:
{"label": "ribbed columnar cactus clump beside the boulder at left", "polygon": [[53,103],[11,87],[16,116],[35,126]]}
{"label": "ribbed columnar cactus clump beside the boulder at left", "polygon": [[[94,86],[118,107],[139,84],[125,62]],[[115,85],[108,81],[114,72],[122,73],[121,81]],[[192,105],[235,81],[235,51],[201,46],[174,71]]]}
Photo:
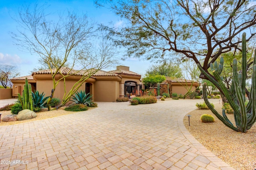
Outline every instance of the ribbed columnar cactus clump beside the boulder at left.
{"label": "ribbed columnar cactus clump beside the boulder at left", "polygon": [[25,80],[24,90],[22,91],[22,97],[18,93],[18,100],[22,106],[22,109],[29,109],[33,111],[33,98],[31,84],[28,84],[28,78]]}

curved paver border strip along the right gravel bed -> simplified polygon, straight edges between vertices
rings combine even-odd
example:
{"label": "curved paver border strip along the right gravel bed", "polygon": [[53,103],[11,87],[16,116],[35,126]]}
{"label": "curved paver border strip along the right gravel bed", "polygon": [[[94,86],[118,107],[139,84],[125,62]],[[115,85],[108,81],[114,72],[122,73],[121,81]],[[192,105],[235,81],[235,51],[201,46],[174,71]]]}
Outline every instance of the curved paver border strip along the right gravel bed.
{"label": "curved paver border strip along the right gravel bed", "polygon": [[[191,112],[191,111],[190,111]],[[212,163],[216,164],[219,166],[222,170],[235,170],[232,168],[229,164],[224,162],[222,159],[218,158],[214,153],[210,152],[205,146],[203,146],[188,130],[186,129],[184,123],[183,123],[183,118],[186,116],[188,113],[183,113],[180,115],[180,117],[177,120],[178,127],[182,134],[186,137],[186,139],[206,158],[208,158]]]}

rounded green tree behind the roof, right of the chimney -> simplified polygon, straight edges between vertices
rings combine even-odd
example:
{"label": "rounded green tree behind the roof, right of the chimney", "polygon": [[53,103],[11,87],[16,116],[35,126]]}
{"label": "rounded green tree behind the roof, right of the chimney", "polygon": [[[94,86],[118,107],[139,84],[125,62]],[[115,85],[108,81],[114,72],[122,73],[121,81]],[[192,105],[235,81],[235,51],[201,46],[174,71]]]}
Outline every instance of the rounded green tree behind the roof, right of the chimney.
{"label": "rounded green tree behind the roof, right of the chimney", "polygon": [[146,70],[146,74],[163,75],[168,77],[182,77],[182,71],[178,64],[163,63],[158,65],[152,65]]}

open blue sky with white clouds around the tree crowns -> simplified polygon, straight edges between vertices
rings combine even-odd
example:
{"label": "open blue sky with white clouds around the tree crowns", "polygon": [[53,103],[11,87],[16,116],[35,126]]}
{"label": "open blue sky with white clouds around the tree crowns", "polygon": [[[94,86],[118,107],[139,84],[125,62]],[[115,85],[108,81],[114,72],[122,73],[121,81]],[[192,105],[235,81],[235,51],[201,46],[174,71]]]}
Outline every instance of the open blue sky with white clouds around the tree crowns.
{"label": "open blue sky with white clouds around the tree crowns", "polygon": [[[38,56],[29,52],[22,51],[15,45],[10,32],[17,32],[17,23],[12,19],[18,14],[18,10],[23,5],[32,5],[34,3],[46,3],[48,11],[58,12],[76,11],[77,13],[87,14],[88,18],[94,19],[98,24],[120,24],[120,18],[115,16],[106,8],[96,8],[93,0],[0,0],[0,64],[10,64],[17,66],[20,76],[30,75],[33,68],[38,66]],[[122,57],[122,54],[119,56]],[[150,66],[149,61],[128,58],[119,60],[119,65],[130,67],[130,71],[138,74],[145,74],[146,69]],[[114,70],[108,68],[107,70]]]}

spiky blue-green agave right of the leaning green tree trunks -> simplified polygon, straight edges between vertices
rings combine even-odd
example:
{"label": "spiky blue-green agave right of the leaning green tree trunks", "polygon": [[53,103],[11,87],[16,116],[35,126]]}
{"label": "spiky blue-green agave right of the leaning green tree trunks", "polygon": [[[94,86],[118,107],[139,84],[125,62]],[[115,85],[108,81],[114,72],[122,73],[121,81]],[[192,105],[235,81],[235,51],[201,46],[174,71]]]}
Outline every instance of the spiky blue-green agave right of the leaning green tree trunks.
{"label": "spiky blue-green agave right of the leaning green tree trunks", "polygon": [[73,100],[70,100],[73,102],[73,104],[84,104],[86,106],[90,106],[93,104],[92,102],[92,95],[90,93],[85,93],[85,91],[80,90],[79,92],[76,92],[72,97]]}

